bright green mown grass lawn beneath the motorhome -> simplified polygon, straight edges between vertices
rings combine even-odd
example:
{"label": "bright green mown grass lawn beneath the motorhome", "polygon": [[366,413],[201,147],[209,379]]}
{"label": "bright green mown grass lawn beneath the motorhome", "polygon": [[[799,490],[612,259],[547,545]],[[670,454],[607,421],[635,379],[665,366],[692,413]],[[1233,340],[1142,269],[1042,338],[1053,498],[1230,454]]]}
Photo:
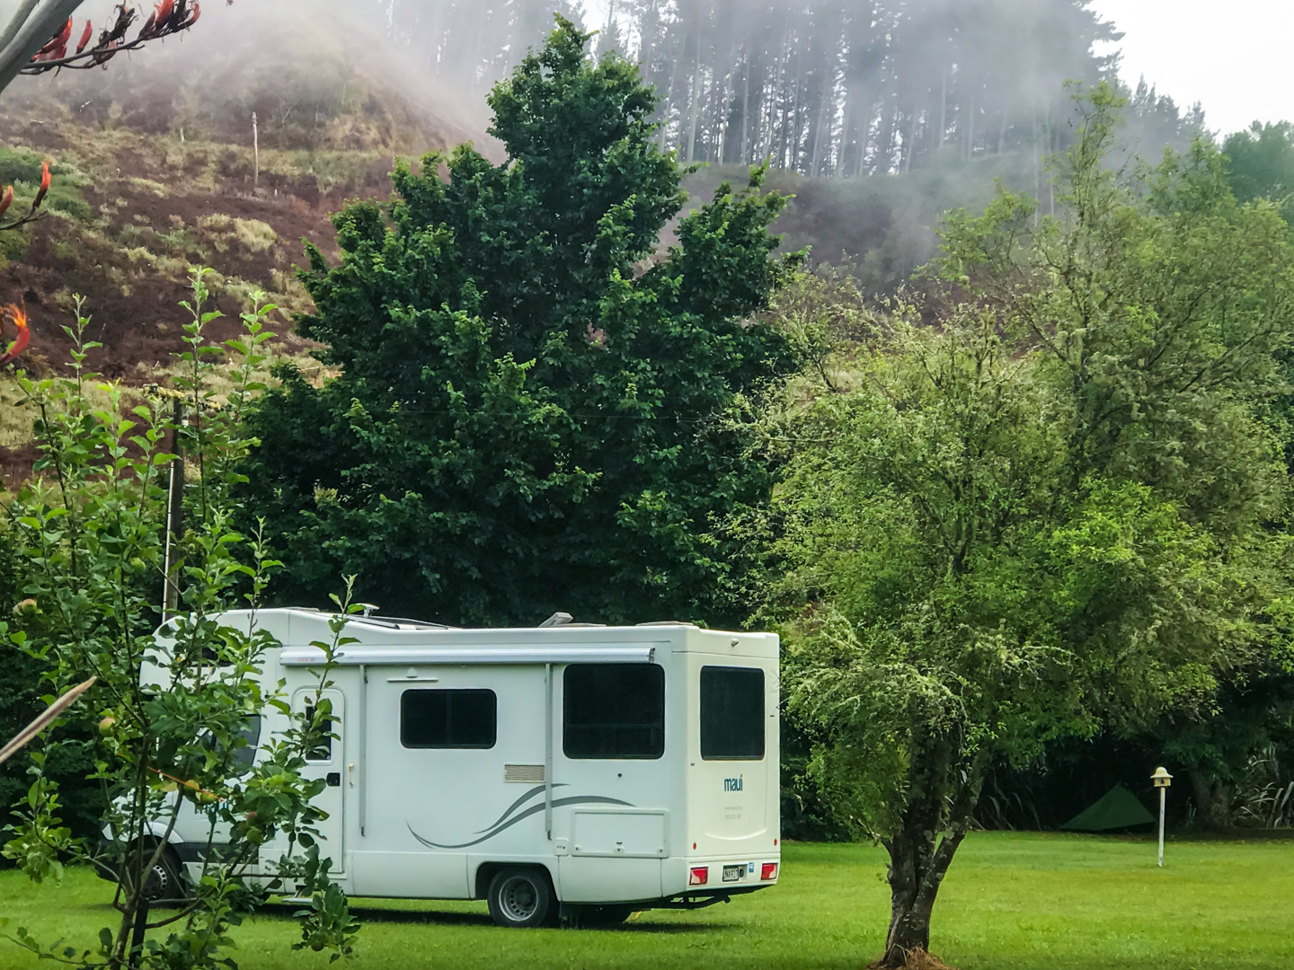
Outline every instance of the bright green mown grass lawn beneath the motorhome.
{"label": "bright green mown grass lawn beneath the motorhome", "polygon": [[[933,949],[961,970],[1020,967],[1294,967],[1294,841],[1174,842],[981,833],[952,865]],[[617,930],[499,930],[481,903],[356,900],[355,970],[404,967],[851,967],[880,953],[889,907],[884,852],[785,846],[782,885],[695,913],[643,913]],[[45,940],[88,944],[110,922],[107,885],[70,872],[62,887],[0,873],[0,917]],[[236,930],[242,970],[322,970],[292,953],[289,920]],[[4,947],[9,947],[8,949]],[[0,967],[36,966],[0,942]]]}

